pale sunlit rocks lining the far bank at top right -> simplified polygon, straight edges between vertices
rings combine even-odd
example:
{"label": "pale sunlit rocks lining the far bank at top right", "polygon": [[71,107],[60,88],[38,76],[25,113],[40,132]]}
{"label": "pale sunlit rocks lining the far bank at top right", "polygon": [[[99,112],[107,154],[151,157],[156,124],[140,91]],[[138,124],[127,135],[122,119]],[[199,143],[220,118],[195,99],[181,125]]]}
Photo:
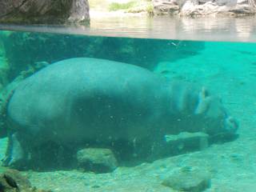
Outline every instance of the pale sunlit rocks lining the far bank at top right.
{"label": "pale sunlit rocks lining the far bank at top right", "polygon": [[154,0],[156,14],[182,16],[249,15],[256,13],[255,0]]}

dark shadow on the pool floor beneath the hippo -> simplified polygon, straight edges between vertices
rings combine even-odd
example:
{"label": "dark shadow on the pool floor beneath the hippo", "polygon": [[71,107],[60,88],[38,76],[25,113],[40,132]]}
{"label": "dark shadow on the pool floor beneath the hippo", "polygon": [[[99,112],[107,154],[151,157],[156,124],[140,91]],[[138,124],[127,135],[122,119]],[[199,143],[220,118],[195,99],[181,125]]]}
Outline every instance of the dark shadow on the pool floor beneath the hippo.
{"label": "dark shadow on the pool floor beneath the hippo", "polygon": [[[212,144],[223,144],[233,142],[238,138],[238,134],[222,134],[209,138],[209,146]],[[173,143],[174,144],[174,143]],[[83,164],[78,165],[77,152],[81,149],[110,149],[113,151],[118,161],[118,166],[138,166],[143,162],[154,162],[161,158],[170,158],[180,154],[187,154],[194,151],[204,150],[202,142],[186,140],[185,142],[177,141],[177,145],[166,145],[158,155],[154,154],[152,146],[144,141],[134,147],[134,143],[118,140],[110,143],[88,141],[85,143],[70,143],[61,146],[56,142],[45,142],[33,149],[30,159],[27,161],[17,162],[12,168],[18,170],[36,170],[36,171],[54,171],[54,170],[81,170],[93,171],[94,173],[111,172],[109,167],[104,164]],[[206,146],[207,148],[207,146]]]}

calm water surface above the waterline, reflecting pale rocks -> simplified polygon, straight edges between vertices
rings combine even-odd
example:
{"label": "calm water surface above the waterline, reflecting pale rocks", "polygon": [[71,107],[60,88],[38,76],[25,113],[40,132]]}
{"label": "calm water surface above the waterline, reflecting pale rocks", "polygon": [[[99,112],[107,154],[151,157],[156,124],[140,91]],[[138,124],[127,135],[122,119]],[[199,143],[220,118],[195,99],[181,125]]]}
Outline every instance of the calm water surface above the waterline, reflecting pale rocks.
{"label": "calm water surface above the waterline, reflecting pale rocks", "polygon": [[255,17],[242,18],[92,18],[89,26],[10,26],[0,30],[32,30],[64,34],[130,38],[166,38],[230,42],[256,42]]}

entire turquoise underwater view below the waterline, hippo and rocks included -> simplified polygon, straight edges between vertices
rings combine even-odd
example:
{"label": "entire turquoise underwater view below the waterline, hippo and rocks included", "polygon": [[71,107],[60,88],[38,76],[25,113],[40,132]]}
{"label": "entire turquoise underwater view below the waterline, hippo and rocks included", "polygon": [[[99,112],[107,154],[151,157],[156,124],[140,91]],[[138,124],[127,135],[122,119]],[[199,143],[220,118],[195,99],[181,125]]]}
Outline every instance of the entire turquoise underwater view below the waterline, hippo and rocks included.
{"label": "entire turquoise underwater view below the waterline, hippo and rocks included", "polygon": [[2,30],[0,191],[254,191],[255,82],[256,43]]}

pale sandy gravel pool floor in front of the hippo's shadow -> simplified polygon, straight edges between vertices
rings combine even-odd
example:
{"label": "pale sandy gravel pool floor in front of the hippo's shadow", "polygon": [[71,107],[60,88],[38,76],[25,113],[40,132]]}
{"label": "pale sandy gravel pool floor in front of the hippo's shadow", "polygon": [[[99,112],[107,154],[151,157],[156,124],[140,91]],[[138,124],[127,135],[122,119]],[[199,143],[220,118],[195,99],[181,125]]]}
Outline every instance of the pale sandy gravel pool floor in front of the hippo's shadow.
{"label": "pale sandy gravel pool floor in front of the hippo's shadow", "polygon": [[162,180],[175,170],[192,167],[210,172],[210,191],[254,191],[256,187],[255,137],[210,146],[206,150],[118,167],[110,174],[83,173],[78,170],[24,172],[33,186],[56,191],[174,191]]}

